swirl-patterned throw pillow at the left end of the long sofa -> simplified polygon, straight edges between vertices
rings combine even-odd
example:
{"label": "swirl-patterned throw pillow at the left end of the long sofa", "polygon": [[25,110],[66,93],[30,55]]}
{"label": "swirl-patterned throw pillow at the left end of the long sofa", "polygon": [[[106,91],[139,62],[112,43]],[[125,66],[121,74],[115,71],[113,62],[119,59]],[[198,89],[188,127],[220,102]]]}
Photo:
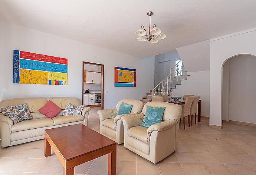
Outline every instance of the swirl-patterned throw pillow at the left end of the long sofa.
{"label": "swirl-patterned throw pillow at the left end of the long sofa", "polygon": [[0,110],[1,113],[12,119],[14,124],[24,120],[33,119],[29,113],[29,108],[27,108],[26,103],[18,106],[7,106],[5,108],[1,108]]}

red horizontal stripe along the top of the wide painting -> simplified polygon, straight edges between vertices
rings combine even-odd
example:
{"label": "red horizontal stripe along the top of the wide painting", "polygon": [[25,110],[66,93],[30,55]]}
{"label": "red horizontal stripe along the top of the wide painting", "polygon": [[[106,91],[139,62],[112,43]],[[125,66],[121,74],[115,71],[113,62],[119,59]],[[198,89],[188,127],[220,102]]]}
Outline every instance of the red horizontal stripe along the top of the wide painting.
{"label": "red horizontal stripe along the top of the wide painting", "polygon": [[20,51],[20,58],[68,65],[68,59],[66,58],[42,55],[42,54],[31,53],[31,52]]}

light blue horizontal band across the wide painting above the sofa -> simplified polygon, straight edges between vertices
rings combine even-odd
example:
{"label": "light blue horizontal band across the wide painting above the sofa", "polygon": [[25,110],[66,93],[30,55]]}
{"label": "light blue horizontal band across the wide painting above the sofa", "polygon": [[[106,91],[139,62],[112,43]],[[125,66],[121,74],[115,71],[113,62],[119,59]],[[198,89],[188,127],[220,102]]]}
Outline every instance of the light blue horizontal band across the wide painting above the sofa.
{"label": "light blue horizontal band across the wide painting above the sofa", "polygon": [[39,62],[35,60],[20,59],[20,69],[42,70],[48,72],[68,72],[67,65],[60,65],[49,62]]}

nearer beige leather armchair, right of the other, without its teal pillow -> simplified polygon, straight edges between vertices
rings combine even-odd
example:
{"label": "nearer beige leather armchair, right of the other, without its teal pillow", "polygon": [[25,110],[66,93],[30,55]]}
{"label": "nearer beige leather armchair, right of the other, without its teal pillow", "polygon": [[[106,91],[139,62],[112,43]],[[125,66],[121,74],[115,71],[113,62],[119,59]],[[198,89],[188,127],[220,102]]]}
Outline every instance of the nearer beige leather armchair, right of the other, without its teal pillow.
{"label": "nearer beige leather armchair, right of the other, without its teal pillow", "polygon": [[[161,123],[148,128],[140,126],[146,106],[165,107]],[[142,113],[122,116],[124,124],[124,146],[152,163],[157,163],[176,151],[178,129],[182,108],[168,102],[148,102]]]}

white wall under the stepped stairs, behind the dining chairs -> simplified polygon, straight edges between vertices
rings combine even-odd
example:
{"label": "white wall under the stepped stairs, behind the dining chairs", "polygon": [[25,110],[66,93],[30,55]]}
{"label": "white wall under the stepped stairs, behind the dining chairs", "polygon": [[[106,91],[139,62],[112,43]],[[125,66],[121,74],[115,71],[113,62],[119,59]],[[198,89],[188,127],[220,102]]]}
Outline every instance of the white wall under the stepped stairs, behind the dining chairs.
{"label": "white wall under the stepped stairs, behind the dining chairs", "polygon": [[176,85],[171,96],[183,97],[184,94],[200,96],[201,115],[209,117],[210,108],[210,71],[188,72],[187,80]]}

